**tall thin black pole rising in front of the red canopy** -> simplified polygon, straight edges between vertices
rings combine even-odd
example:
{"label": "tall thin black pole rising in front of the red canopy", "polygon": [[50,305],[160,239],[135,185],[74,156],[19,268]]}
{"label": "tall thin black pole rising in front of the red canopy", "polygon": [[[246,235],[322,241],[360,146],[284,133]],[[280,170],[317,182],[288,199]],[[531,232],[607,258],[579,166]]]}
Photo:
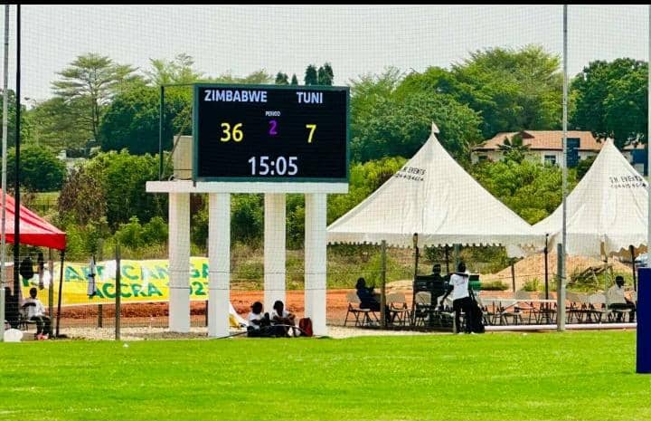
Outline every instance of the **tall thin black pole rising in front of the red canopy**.
{"label": "tall thin black pole rising in front of the red canopy", "polygon": [[[14,301],[18,300],[20,279],[20,5],[16,5],[16,121],[15,121],[15,179],[14,179]],[[20,305],[20,303],[18,303]]]}

